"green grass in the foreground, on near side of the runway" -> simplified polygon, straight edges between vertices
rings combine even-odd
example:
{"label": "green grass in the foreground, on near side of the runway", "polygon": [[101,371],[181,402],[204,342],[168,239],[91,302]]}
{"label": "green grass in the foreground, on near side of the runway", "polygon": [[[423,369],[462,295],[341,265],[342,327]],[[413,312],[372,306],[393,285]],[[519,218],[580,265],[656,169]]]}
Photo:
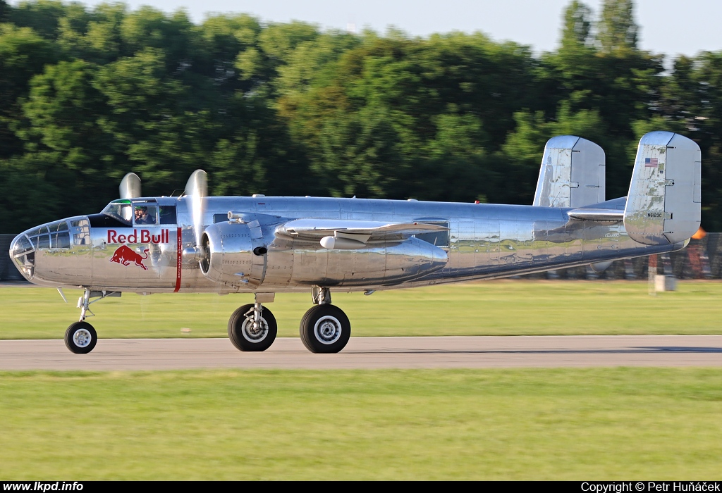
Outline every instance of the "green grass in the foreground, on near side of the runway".
{"label": "green grass in the foreground, on near side of the runway", "polygon": [[0,479],[709,479],[722,369],[0,373]]}

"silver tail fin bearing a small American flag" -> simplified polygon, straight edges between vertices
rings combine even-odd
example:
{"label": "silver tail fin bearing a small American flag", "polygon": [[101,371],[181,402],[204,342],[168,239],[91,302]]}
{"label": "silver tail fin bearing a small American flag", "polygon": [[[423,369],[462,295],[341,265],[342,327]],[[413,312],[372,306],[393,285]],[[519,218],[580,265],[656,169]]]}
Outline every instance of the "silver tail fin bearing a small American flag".
{"label": "silver tail fin bearing a small American flag", "polygon": [[700,228],[700,146],[678,133],[639,141],[625,208],[625,229],[647,245],[675,244]]}

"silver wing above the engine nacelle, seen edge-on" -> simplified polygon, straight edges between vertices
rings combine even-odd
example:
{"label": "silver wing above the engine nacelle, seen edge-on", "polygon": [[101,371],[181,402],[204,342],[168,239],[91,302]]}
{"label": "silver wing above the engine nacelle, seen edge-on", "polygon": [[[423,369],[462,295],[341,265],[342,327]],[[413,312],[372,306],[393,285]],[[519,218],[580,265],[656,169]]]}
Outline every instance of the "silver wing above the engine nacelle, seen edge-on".
{"label": "silver wing above the engine nacelle, seen edge-on", "polygon": [[[333,249],[354,246],[345,240],[366,244],[367,241],[404,239],[414,234],[432,231],[447,231],[448,228],[427,223],[388,223],[386,221],[355,221],[348,219],[294,219],[276,229],[279,236],[321,241],[321,244]],[[336,239],[331,242],[329,238]],[[323,241],[322,241],[323,240]],[[324,244],[325,243],[325,244]],[[327,246],[328,245],[328,246]],[[355,245],[362,247],[362,245]]]}

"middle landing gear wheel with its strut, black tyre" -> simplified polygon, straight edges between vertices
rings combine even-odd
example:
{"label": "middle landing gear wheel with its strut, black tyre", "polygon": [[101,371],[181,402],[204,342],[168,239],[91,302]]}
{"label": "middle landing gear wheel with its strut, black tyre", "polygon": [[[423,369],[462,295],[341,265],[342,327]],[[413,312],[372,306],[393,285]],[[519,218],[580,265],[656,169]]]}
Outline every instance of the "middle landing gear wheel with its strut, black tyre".
{"label": "middle landing gear wheel with its strut, black tyre", "polygon": [[278,334],[276,317],[261,302],[271,303],[274,293],[256,293],[256,303],[243,305],[228,321],[228,339],[241,351],[265,351]]}

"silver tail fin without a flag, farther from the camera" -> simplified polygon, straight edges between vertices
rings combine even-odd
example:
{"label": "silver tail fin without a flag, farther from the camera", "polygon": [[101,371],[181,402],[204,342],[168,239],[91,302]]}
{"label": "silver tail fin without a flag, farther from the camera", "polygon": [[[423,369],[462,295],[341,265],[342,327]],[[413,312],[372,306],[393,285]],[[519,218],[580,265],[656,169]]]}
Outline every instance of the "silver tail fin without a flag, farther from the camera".
{"label": "silver tail fin without a flag, farther from the camera", "polygon": [[537,207],[583,207],[605,200],[604,150],[575,136],[549,139],[541,158],[534,203]]}

